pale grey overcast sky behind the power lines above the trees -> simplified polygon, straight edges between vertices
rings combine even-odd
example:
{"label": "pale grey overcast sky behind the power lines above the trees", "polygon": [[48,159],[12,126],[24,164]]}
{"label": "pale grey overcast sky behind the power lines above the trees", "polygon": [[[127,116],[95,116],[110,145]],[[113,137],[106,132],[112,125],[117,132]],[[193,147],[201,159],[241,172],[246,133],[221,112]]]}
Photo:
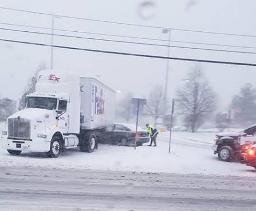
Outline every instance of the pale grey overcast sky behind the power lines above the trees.
{"label": "pale grey overcast sky behind the power lines above the trees", "polygon": [[[255,0],[155,0],[155,6],[141,9],[144,0],[0,0],[1,7],[26,9],[91,19],[125,22],[150,26],[204,30],[236,34],[256,35]],[[146,13],[147,12],[147,13]],[[145,16],[142,16],[146,14]],[[148,16],[147,16],[148,15]],[[145,19],[146,18],[146,19]],[[30,26],[51,27],[52,17],[0,9],[0,22]],[[22,30],[51,33],[50,30],[6,26]],[[55,18],[56,29],[86,31],[102,34],[140,36],[167,39],[161,29],[137,26],[122,26],[69,18]],[[86,35],[58,32],[103,39],[167,44],[164,41],[145,41],[118,38],[106,35]],[[37,43],[51,43],[49,35],[35,35],[0,30],[0,38]],[[246,45],[256,47],[256,38],[230,35],[211,35],[184,31],[172,31],[172,40],[206,42],[214,44]],[[127,53],[167,56],[167,47],[138,44],[120,44],[105,41],[55,37],[54,44]],[[177,44],[191,47],[250,51],[255,49],[215,47],[194,44]],[[18,99],[26,86],[27,79],[41,62],[50,67],[50,47],[15,44],[0,41],[0,97]],[[188,49],[170,49],[170,56],[256,63],[255,54],[223,53]],[[219,94],[220,110],[227,109],[234,94],[245,83],[256,86],[256,67],[202,63],[210,84]],[[193,62],[170,61],[168,96],[184,83],[186,72]],[[77,72],[82,76],[98,77],[102,82],[123,93],[132,91],[137,96],[146,96],[156,84],[165,85],[166,60],[141,58],[125,55],[92,53],[68,49],[54,49],[54,69]]]}

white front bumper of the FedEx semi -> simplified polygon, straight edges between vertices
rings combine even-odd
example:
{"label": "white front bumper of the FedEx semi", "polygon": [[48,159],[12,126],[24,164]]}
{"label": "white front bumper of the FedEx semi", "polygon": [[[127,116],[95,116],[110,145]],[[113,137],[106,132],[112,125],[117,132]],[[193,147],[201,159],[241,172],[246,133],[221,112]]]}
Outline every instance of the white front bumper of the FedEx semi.
{"label": "white front bumper of the FedEx semi", "polygon": [[24,152],[48,152],[50,150],[50,141],[38,138],[33,141],[13,140],[3,137],[0,140],[3,149],[18,150]]}

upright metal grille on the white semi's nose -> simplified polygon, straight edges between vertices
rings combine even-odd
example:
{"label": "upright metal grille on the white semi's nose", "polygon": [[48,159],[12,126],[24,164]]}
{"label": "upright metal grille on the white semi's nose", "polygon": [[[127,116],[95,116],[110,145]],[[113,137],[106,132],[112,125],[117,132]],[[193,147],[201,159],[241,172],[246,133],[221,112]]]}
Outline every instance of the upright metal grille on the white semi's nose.
{"label": "upright metal grille on the white semi's nose", "polygon": [[22,118],[8,119],[8,138],[29,140],[30,121]]}

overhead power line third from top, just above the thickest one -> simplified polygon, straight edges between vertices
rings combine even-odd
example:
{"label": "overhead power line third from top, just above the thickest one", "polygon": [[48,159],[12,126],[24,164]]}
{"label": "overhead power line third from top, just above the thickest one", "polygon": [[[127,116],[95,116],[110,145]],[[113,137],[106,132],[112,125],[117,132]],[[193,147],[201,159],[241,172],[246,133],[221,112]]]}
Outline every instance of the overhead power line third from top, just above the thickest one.
{"label": "overhead power line third from top, just above the thickest one", "polygon": [[15,32],[23,32],[23,33],[31,33],[31,34],[38,34],[38,35],[55,35],[55,36],[62,36],[62,37],[69,37],[69,38],[89,39],[89,40],[98,40],[98,41],[107,41],[107,42],[125,43],[125,44],[140,44],[140,45],[151,45],[151,46],[161,46],[161,47],[183,48],[183,49],[192,49],[192,50],[204,50],[204,51],[217,51],[217,52],[229,52],[229,53],[249,53],[249,54],[256,54],[256,52],[230,51],[230,50],[223,50],[223,49],[198,48],[198,47],[177,46],[177,45],[150,44],[150,43],[140,43],[140,42],[130,42],[130,41],[100,39],[100,38],[93,38],[93,37],[61,35],[61,34],[51,34],[51,33],[44,33],[44,32],[35,32],[35,31],[26,31],[26,30],[10,29],[10,28],[0,28],[0,30],[15,31]]}

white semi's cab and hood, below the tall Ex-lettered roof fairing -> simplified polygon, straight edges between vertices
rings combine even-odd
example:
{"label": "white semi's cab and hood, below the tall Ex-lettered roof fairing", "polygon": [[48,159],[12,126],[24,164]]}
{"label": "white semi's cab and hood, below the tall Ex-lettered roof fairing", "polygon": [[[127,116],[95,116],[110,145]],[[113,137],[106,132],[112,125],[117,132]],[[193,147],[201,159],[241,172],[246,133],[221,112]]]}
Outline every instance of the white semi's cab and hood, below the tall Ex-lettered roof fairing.
{"label": "white semi's cab and hood, below the tall Ex-lettered roof fairing", "polygon": [[[21,151],[49,152],[54,134],[63,139],[69,132],[68,102],[68,94],[29,94],[26,108],[7,120],[3,147],[16,155]],[[53,147],[55,153],[60,150],[58,143]]]}

